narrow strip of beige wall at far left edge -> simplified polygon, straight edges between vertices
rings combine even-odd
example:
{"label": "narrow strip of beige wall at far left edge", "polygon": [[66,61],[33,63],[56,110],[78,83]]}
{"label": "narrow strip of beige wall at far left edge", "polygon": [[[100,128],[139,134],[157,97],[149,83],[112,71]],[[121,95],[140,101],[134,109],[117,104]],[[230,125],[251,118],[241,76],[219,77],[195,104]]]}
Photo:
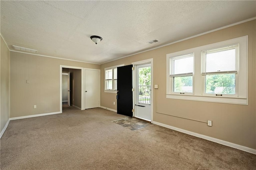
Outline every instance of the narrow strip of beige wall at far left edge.
{"label": "narrow strip of beige wall at far left edge", "polygon": [[1,36],[0,53],[0,127],[1,132],[10,118],[10,51]]}

